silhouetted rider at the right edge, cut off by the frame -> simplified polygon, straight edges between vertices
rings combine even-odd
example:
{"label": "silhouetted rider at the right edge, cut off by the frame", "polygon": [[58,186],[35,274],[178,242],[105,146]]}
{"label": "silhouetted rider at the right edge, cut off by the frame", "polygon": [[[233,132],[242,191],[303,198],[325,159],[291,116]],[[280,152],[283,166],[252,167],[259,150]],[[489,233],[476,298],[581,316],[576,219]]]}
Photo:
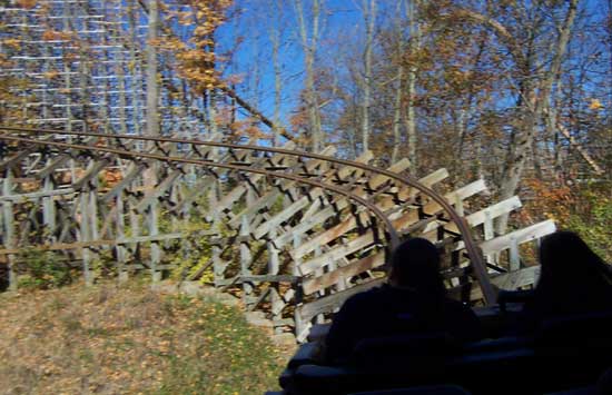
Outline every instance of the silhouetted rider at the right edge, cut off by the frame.
{"label": "silhouetted rider at the right edge, cut off by the frame", "polygon": [[522,332],[543,319],[612,310],[612,271],[580,236],[556,231],[540,245],[540,279],[520,319]]}

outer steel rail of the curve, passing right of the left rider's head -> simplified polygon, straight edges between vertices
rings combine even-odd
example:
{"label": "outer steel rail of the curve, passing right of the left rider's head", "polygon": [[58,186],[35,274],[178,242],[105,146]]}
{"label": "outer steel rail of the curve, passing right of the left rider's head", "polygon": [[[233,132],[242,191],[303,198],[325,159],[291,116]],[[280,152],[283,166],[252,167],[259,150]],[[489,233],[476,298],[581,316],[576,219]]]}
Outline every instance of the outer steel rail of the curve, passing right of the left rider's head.
{"label": "outer steel rail of the curve, passing right of the left rider's head", "polygon": [[[377,175],[388,177],[405,186],[417,189],[421,192],[427,195],[435,203],[437,203],[443,208],[444,211],[448,214],[450,219],[456,224],[463,237],[465,249],[467,251],[470,260],[472,261],[474,274],[481,285],[485,302],[487,304],[495,303],[496,292],[493,285],[491,284],[491,280],[488,279],[486,266],[484,265],[482,259],[482,254],[480,253],[480,249],[476,246],[474,238],[472,237],[470,226],[465,220],[465,218],[461,217],[455,211],[453,206],[448,204],[442,195],[437,194],[432,188],[422,185],[417,180],[412,179],[411,177],[402,176],[399,174],[396,174],[386,169],[376,168],[374,166],[364,165],[353,160],[332,158],[325,155],[292,150],[292,149],[285,149],[285,148],[261,147],[261,146],[254,146],[254,145],[239,145],[239,144],[217,142],[217,141],[201,141],[201,140],[179,139],[179,138],[170,138],[170,137],[108,135],[108,134],[81,132],[81,131],[61,131],[61,130],[53,130],[53,129],[32,129],[32,128],[23,128],[23,127],[0,126],[0,130],[9,130],[9,131],[27,132],[27,134],[87,136],[87,137],[99,137],[99,138],[106,138],[106,139],[132,139],[132,140],[156,141],[156,142],[175,142],[175,144],[186,144],[186,145],[194,145],[194,146],[207,146],[207,147],[220,147],[220,148],[230,148],[230,149],[246,149],[246,150],[263,151],[263,152],[274,152],[274,154],[282,154],[282,155],[288,155],[288,156],[323,160],[323,161],[333,162],[333,164],[343,165],[343,166],[349,166],[353,168],[358,168],[365,171],[371,171]],[[245,169],[244,167],[241,168]],[[278,174],[275,172],[275,175],[278,175]]]}

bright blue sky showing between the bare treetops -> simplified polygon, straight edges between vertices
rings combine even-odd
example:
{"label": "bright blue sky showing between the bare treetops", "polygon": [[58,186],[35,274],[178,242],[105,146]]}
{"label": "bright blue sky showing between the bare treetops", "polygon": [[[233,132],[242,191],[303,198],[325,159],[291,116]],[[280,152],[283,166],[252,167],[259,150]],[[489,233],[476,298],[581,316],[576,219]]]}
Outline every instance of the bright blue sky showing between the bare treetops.
{"label": "bright blue sky showing between the bare treetops", "polygon": [[[357,42],[363,36],[363,0],[320,0],[324,6],[325,22],[322,24],[318,57],[323,63],[333,62],[334,58],[347,50],[351,41]],[[239,50],[234,56],[235,66],[228,69],[229,75],[243,76],[244,82],[238,87],[248,101],[256,105],[272,118],[274,112],[274,71],[272,63],[272,45],[269,28],[280,23],[283,27],[283,47],[280,62],[283,67],[283,122],[287,124],[292,111],[297,107],[298,95],[304,86],[304,62],[300,39],[297,31],[297,18],[294,0],[280,0],[283,18],[279,21],[274,12],[275,0],[237,0],[241,9],[238,18],[229,20],[218,33],[221,48],[234,45],[236,37],[244,38]],[[307,9],[312,0],[303,0]],[[378,1],[377,24],[388,24],[385,18],[395,11],[395,1]],[[604,0],[585,0],[586,11],[595,20],[605,20],[609,14],[609,2]],[[308,16],[307,16],[308,17]],[[310,20],[307,18],[307,20]],[[388,21],[388,19],[387,19]],[[345,42],[345,41],[348,41]],[[256,65],[256,66],[255,66]],[[338,70],[339,71],[339,70]],[[255,80],[258,87],[255,88]],[[603,83],[610,83],[603,81]],[[510,99],[510,98],[509,98]]]}

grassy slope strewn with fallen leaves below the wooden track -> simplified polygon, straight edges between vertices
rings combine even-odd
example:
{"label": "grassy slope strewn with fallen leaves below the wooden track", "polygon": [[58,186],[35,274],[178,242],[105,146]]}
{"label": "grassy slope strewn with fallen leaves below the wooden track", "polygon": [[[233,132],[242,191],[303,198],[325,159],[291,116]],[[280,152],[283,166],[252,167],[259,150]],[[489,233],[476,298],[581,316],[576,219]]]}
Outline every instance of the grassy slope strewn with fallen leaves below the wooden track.
{"label": "grassy slope strewn with fallen leaves below the wooden track", "polygon": [[261,394],[283,364],[211,299],[101,285],[0,303],[0,394]]}

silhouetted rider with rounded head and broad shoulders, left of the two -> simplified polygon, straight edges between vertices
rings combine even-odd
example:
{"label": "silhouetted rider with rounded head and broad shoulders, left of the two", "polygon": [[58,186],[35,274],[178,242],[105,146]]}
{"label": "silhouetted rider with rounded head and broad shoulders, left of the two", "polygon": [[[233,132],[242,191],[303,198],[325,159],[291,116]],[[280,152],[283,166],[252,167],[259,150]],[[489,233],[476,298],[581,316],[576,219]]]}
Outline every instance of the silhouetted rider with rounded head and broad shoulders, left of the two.
{"label": "silhouetted rider with rounded head and broad shoulders, left of the two", "polygon": [[386,285],[348,298],[325,338],[327,363],[343,363],[365,338],[444,332],[457,342],[477,340],[472,309],[446,296],[437,248],[412,238],[393,253]]}

